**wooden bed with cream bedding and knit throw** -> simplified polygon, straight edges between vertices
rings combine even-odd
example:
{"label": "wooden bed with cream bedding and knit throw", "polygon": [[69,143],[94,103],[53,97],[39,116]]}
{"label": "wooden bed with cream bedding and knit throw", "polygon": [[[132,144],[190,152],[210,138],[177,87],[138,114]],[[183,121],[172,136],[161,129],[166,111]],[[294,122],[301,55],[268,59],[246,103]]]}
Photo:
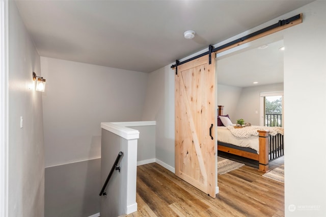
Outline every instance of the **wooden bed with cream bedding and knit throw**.
{"label": "wooden bed with cream bedding and knit throw", "polygon": [[[223,116],[224,106],[218,105],[218,107],[218,115]],[[217,127],[219,151],[257,160],[259,161],[259,170],[263,172],[269,171],[269,161],[284,155],[283,129],[275,131],[274,127],[257,126],[256,135],[251,135],[248,138],[238,138],[231,133],[232,130],[237,131],[237,129],[234,130],[233,128],[233,126]],[[255,126],[250,128],[256,129]],[[247,131],[250,131],[250,128]]]}

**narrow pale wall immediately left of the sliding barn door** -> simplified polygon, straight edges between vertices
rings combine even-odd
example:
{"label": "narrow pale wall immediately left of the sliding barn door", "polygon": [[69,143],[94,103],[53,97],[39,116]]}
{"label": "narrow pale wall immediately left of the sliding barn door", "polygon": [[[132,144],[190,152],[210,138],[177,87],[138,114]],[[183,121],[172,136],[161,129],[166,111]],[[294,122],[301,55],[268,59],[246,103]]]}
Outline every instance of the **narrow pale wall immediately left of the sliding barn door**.
{"label": "narrow pale wall immediately left of the sliding barn door", "polygon": [[156,162],[174,170],[174,70],[149,74],[143,120],[156,121]]}

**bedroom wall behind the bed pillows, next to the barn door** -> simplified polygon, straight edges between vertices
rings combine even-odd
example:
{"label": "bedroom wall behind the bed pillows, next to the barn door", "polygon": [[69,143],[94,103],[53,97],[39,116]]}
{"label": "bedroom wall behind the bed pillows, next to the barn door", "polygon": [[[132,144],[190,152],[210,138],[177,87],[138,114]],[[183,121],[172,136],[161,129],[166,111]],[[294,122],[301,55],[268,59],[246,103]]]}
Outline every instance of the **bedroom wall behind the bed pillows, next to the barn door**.
{"label": "bedroom wall behind the bed pillows, next to the barn door", "polygon": [[[216,64],[218,65],[218,64]],[[218,73],[218,72],[216,72]],[[236,123],[236,107],[242,88],[218,84],[218,104],[224,105],[223,114],[229,115],[232,123]]]}

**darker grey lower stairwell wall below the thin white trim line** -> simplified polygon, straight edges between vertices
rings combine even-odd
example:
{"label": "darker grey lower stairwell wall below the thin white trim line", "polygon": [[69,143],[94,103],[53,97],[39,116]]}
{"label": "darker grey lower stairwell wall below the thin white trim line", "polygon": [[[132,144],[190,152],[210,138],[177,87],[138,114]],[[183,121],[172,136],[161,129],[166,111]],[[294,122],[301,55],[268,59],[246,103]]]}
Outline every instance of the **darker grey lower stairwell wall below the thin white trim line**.
{"label": "darker grey lower stairwell wall below the thin white trim line", "polygon": [[45,168],[44,216],[91,216],[100,211],[101,158]]}

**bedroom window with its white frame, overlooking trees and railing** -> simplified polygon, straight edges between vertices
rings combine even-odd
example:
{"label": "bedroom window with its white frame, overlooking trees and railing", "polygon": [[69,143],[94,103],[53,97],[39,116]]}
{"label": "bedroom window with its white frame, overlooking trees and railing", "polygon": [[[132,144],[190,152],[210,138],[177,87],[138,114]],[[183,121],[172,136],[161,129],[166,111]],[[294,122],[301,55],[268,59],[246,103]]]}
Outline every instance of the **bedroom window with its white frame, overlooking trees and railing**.
{"label": "bedroom window with its white frame, overlooking trees and railing", "polygon": [[261,93],[261,125],[283,126],[283,92]]}

